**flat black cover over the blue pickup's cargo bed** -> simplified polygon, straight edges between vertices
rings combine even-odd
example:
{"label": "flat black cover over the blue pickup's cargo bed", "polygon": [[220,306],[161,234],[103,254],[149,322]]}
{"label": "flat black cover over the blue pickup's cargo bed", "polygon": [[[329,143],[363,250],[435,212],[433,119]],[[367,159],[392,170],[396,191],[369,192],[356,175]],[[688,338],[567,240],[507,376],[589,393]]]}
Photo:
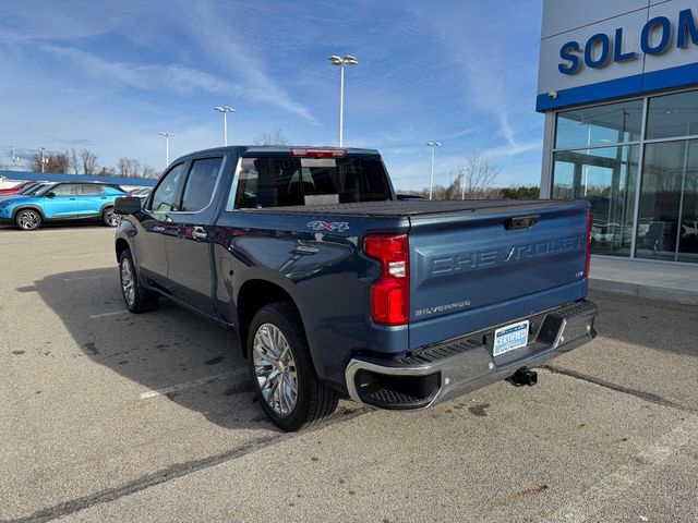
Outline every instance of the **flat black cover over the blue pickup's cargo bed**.
{"label": "flat black cover over the blue pickup's cargo bed", "polygon": [[414,217],[462,212],[526,212],[529,209],[550,209],[576,206],[573,200],[550,199],[452,199],[452,200],[389,200],[362,202],[356,204],[299,205],[290,207],[267,207],[240,209],[242,212],[272,215],[330,215],[354,217]]}

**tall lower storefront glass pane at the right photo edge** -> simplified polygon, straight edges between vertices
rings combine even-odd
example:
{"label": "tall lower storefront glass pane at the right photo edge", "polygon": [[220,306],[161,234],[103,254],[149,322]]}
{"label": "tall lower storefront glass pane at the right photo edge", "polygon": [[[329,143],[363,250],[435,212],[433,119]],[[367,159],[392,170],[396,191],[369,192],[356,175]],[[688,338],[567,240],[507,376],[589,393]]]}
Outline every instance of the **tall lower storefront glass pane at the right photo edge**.
{"label": "tall lower storefront glass pane at the right photo edge", "polygon": [[645,146],[636,256],[698,262],[698,141]]}

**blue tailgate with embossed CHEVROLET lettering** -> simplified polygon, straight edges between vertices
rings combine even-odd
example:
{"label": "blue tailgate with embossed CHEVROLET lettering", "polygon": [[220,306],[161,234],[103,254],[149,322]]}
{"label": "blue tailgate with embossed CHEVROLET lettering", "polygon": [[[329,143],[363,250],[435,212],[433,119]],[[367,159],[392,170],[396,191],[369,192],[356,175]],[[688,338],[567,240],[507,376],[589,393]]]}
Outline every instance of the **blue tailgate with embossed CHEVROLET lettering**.
{"label": "blue tailgate with embossed CHEVROLET lettering", "polygon": [[586,295],[586,202],[410,217],[410,349]]}

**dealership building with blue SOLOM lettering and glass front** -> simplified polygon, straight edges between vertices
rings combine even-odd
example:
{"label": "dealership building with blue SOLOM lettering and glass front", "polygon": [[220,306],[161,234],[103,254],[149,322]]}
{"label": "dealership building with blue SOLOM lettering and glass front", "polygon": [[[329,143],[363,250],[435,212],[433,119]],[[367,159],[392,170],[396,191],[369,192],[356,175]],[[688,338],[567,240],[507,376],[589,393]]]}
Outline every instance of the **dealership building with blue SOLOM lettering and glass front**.
{"label": "dealership building with blue SOLOM lettering and glass front", "polygon": [[698,263],[698,1],[544,0],[541,194],[599,255]]}

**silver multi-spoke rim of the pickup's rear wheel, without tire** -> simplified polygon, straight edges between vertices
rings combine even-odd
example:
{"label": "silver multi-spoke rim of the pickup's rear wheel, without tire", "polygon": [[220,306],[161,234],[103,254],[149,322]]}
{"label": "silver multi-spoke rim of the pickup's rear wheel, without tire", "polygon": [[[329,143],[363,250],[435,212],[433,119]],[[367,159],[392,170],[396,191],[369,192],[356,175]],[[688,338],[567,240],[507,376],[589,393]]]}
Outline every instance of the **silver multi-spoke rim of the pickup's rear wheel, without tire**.
{"label": "silver multi-spoke rim of the pickup's rear wheel, without tire", "polygon": [[252,355],[264,401],[277,415],[288,416],[298,400],[298,376],[291,348],[280,329],[262,324],[254,333]]}

